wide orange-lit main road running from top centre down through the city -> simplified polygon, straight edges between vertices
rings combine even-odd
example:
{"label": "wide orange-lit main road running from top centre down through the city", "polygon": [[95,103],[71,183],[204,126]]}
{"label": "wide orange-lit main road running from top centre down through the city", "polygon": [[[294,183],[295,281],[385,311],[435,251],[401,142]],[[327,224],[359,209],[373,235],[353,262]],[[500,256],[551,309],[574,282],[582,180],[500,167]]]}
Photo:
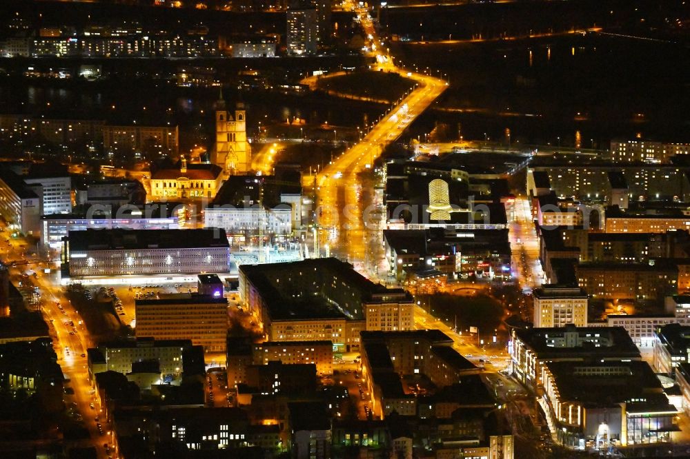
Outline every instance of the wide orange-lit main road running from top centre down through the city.
{"label": "wide orange-lit main road running from top centre down through the city", "polygon": [[[366,10],[357,12],[371,41],[380,43],[375,39],[375,30]],[[391,57],[384,54],[379,56],[379,68],[407,76],[416,81],[417,86],[395,108],[386,113],[360,143],[322,170],[317,176],[316,190],[319,245],[324,247],[327,244],[335,254],[346,257],[360,272],[365,272],[369,276],[376,276],[377,272],[384,274],[381,270],[375,269],[382,265],[375,249],[377,245],[380,247],[380,232],[385,216],[381,203],[376,202],[375,194],[369,191],[373,186],[362,183],[362,172],[373,167],[373,161],[380,156],[386,145],[396,141],[409,123],[422,114],[447,86],[446,81],[406,72],[395,67]],[[475,363],[485,363],[489,371],[507,365],[504,349],[500,346],[491,349],[489,336],[482,335],[487,345],[487,348],[484,348],[480,346],[477,335],[457,334],[451,325],[435,318],[420,306],[415,307],[415,328],[440,329],[454,340],[457,351]],[[482,360],[482,363],[479,360]]]}

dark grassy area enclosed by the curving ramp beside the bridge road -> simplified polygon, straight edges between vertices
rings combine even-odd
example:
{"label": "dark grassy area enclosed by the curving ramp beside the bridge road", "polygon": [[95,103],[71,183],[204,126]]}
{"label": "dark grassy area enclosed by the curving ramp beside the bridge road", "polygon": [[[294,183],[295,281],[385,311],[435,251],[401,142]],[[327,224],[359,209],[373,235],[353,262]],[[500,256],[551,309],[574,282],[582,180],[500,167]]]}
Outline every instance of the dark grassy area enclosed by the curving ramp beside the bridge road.
{"label": "dark grassy area enclosed by the curving ramp beside the bridge road", "polygon": [[392,102],[414,88],[415,82],[397,73],[367,70],[323,78],[319,80],[318,86],[320,90]]}

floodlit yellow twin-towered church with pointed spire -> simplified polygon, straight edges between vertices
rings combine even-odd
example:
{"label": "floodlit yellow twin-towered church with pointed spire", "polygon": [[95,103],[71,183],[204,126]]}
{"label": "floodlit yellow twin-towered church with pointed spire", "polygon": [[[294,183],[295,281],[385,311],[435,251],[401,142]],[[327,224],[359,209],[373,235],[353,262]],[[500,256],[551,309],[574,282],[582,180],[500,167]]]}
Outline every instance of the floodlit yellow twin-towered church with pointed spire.
{"label": "floodlit yellow twin-towered church with pointed spire", "polygon": [[247,142],[244,103],[237,103],[235,116],[226,110],[223,92],[216,103],[216,143],[211,163],[219,165],[228,174],[246,174],[251,170],[251,151]]}

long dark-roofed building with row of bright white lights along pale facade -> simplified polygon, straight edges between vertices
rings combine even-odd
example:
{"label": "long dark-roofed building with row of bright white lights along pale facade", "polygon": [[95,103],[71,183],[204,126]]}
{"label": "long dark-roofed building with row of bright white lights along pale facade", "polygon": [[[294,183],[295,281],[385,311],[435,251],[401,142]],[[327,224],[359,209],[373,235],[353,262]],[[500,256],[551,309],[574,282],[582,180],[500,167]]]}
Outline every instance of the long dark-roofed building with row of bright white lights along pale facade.
{"label": "long dark-roofed building with row of bright white lights along pale facade", "polygon": [[65,238],[70,276],[227,272],[224,230],[86,230]]}

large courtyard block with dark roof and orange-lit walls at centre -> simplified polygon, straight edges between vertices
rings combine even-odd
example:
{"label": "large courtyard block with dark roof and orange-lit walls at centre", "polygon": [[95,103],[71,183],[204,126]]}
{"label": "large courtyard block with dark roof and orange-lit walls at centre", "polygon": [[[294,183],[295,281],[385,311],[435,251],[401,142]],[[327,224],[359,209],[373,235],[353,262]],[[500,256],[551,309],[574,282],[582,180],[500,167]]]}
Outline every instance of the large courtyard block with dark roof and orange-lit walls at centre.
{"label": "large courtyard block with dark roof and orange-lit walls at centre", "polygon": [[359,349],[363,330],[414,327],[414,303],[403,289],[388,289],[335,258],[240,265],[239,294],[269,341],[331,340]]}

